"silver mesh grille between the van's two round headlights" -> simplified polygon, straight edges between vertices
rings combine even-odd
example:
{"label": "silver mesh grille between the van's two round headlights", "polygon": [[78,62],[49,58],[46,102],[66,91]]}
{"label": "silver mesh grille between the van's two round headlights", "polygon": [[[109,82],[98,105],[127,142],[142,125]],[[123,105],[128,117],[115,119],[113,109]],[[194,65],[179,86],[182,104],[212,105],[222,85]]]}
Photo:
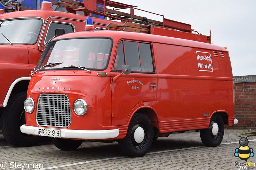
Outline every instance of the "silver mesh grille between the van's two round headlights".
{"label": "silver mesh grille between the van's two round headlights", "polygon": [[40,126],[68,127],[71,123],[68,97],[64,94],[41,94],[36,120]]}

